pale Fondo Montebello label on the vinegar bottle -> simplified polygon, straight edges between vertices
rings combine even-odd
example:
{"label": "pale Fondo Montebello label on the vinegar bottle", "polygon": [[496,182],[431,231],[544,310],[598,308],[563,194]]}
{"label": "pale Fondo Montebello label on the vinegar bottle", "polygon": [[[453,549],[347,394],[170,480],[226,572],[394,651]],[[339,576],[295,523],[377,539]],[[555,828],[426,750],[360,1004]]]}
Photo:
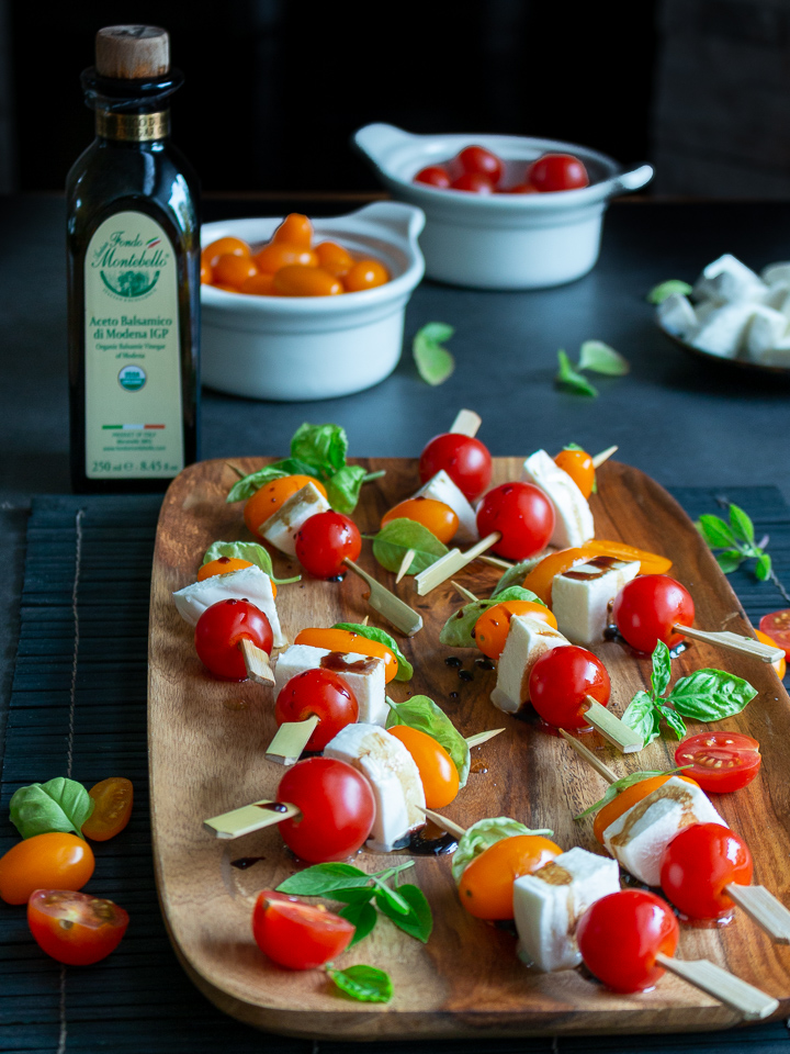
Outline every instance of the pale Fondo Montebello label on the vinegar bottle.
{"label": "pale Fondo Montebello label on the vinegar bottle", "polygon": [[184,463],[178,273],[162,227],[116,212],[84,261],[86,475],[162,479]]}

